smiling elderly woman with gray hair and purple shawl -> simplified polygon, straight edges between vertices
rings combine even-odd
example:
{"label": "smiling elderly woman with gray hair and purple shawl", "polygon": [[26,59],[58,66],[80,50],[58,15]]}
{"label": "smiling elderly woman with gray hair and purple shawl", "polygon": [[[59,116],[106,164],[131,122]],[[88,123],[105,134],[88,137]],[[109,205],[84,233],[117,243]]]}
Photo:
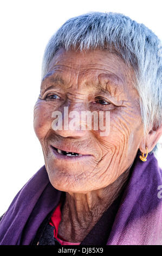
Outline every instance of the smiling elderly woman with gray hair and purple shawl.
{"label": "smiling elderly woman with gray hair and purple shawl", "polygon": [[74,17],[51,37],[34,108],[45,166],[2,216],[1,245],[162,243],[158,46],[113,13]]}

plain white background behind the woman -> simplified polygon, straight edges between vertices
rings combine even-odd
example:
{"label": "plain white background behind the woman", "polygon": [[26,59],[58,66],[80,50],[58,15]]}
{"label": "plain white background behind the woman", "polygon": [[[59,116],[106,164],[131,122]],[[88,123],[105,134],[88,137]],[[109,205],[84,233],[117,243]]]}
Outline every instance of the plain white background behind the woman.
{"label": "plain white background behind the woman", "polygon": [[[113,11],[144,23],[162,39],[160,1],[0,0],[1,173],[0,215],[44,164],[33,129],[41,62],[52,34],[70,17]],[[161,162],[161,150],[158,153]]]}

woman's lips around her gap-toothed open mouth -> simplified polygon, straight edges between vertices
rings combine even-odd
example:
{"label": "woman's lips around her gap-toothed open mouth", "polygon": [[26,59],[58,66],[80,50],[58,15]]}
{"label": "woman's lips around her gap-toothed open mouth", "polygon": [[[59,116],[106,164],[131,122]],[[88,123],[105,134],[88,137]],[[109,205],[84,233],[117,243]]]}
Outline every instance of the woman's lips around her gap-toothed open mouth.
{"label": "woman's lips around her gap-toothed open mouth", "polygon": [[[53,151],[53,154],[54,156],[56,156],[57,158],[60,158],[60,159],[64,159],[64,160],[73,160],[73,161],[76,161],[76,160],[81,160],[81,159],[84,159],[85,157],[90,157],[92,155],[88,155],[88,154],[85,154],[81,151],[78,151],[77,149],[74,149],[74,148],[71,148],[71,147],[58,147],[55,145],[50,145],[50,148],[51,150]],[[67,151],[67,152],[74,152],[76,154],[81,154],[82,156],[67,156],[67,155],[62,155],[60,153],[58,153],[58,151],[55,149],[61,149],[63,151]]]}

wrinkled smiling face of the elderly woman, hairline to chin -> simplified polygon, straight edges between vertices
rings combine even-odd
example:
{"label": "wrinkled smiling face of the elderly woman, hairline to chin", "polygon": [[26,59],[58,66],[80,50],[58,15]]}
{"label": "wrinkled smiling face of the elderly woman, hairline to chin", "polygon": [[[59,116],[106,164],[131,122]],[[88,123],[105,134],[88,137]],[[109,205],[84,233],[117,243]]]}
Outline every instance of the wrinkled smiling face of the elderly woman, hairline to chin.
{"label": "wrinkled smiling face of the elderly woman, hairline to chin", "polygon": [[[85,111],[99,118],[90,128]],[[143,136],[131,70],[107,51],[61,49],[42,80],[34,128],[55,188],[87,193],[107,187],[131,166]]]}

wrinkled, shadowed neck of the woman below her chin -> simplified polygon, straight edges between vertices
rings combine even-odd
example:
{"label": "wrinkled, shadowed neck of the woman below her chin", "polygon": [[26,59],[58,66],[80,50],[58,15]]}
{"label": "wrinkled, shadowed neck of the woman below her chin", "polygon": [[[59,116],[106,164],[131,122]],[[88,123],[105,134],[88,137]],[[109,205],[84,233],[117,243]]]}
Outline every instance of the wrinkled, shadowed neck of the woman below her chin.
{"label": "wrinkled, shadowed neck of the woman below her chin", "polygon": [[69,242],[81,242],[124,189],[129,169],[100,190],[86,194],[66,193],[59,234]]}

